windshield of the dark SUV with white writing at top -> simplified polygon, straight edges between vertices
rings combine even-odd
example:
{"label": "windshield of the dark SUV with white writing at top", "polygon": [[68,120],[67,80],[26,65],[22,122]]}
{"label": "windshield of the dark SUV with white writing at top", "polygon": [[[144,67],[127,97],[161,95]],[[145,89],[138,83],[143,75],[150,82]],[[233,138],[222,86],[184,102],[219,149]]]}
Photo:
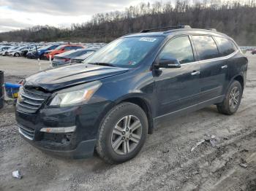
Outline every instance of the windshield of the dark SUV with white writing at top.
{"label": "windshield of the dark SUV with white writing at top", "polygon": [[95,52],[84,63],[108,63],[111,66],[132,68],[138,65],[163,38],[140,36],[117,39]]}

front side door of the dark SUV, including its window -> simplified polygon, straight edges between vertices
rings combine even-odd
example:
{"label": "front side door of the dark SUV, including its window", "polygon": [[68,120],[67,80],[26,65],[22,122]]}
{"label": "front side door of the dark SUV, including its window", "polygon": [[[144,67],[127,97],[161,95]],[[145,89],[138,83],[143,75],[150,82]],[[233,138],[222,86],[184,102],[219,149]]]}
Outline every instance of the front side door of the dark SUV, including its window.
{"label": "front side door of the dark SUV, including its window", "polygon": [[200,63],[195,62],[189,36],[167,42],[157,59],[167,57],[176,58],[181,68],[159,69],[159,76],[154,77],[158,117],[189,109],[200,100]]}

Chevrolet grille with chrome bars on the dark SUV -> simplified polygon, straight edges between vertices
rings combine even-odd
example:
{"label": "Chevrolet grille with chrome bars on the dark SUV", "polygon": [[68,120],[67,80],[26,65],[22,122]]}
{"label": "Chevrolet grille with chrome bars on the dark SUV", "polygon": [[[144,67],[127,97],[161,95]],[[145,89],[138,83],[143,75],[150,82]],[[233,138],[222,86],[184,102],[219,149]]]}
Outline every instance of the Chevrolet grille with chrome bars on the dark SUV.
{"label": "Chevrolet grille with chrome bars on the dark SUV", "polygon": [[20,87],[18,96],[18,111],[26,113],[35,113],[47,100],[50,95],[39,90],[27,90]]}

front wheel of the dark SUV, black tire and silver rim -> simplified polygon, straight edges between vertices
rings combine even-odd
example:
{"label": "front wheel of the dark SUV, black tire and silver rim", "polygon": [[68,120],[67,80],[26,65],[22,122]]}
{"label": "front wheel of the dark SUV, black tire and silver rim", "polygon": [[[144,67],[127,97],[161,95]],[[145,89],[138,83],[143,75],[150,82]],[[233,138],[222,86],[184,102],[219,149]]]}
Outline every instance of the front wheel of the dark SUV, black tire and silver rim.
{"label": "front wheel of the dark SUV, black tire and silver rim", "polygon": [[[126,121],[129,125],[125,125]],[[107,163],[124,163],[138,155],[147,134],[148,119],[143,109],[124,102],[113,107],[102,120],[96,151]]]}

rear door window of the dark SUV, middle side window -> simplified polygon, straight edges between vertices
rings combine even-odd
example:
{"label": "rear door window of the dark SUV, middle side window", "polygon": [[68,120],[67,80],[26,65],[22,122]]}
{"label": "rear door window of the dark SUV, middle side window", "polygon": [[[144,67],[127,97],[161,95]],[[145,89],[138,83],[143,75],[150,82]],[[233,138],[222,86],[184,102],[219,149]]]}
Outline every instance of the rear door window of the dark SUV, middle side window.
{"label": "rear door window of the dark SUV, middle side window", "polygon": [[219,57],[219,51],[211,36],[192,36],[200,61]]}

